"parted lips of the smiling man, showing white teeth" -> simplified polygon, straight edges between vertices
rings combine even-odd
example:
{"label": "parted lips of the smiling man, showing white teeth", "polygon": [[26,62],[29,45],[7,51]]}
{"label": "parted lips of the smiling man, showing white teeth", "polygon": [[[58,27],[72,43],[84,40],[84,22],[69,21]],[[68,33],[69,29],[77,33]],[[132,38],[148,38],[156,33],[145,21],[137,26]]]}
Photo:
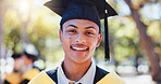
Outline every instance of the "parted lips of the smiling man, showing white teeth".
{"label": "parted lips of the smiling man, showing white teeth", "polygon": [[88,50],[89,50],[88,46],[83,45],[83,44],[72,44],[72,45],[71,45],[71,48],[72,48],[73,51],[78,51],[78,52],[84,52],[84,51],[88,51]]}

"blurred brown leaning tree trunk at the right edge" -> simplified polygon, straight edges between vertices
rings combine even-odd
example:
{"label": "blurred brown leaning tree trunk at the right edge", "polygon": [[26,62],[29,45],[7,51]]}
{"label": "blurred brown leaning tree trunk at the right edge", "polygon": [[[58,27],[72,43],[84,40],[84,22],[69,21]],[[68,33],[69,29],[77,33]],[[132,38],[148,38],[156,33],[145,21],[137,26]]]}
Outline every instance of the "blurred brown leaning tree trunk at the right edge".
{"label": "blurred brown leaning tree trunk at the right edge", "polygon": [[141,47],[145,50],[148,56],[152,80],[159,83],[161,82],[161,67],[159,65],[160,59],[158,54],[156,54],[154,52],[154,45],[152,39],[147,34],[147,26],[141,22],[140,15],[138,13],[139,9],[141,9],[144,4],[150,2],[150,0],[141,0],[137,4],[133,4],[132,0],[125,0],[125,2],[131,9],[132,17],[136,23],[137,29],[139,31]]}

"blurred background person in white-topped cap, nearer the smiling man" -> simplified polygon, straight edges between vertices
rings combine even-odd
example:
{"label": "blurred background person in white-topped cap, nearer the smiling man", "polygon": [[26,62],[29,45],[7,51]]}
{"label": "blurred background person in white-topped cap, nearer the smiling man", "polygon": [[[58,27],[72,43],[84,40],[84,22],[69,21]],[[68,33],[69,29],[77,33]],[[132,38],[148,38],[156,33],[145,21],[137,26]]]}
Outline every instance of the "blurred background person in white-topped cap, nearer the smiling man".
{"label": "blurred background person in white-topped cap, nearer the smiling man", "polygon": [[41,69],[34,65],[34,62],[39,58],[39,52],[33,44],[27,44],[22,58],[24,60],[24,67],[21,84],[27,84],[41,71]]}

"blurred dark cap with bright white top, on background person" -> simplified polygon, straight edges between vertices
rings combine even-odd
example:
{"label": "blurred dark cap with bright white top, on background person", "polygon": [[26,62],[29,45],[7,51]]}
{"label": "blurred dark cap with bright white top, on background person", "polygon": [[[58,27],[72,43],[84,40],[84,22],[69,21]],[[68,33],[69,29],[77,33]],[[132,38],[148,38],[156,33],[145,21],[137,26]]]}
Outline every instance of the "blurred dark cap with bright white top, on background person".
{"label": "blurred dark cap with bright white top, on background person", "polygon": [[34,61],[39,58],[39,52],[33,44],[26,44],[23,54]]}

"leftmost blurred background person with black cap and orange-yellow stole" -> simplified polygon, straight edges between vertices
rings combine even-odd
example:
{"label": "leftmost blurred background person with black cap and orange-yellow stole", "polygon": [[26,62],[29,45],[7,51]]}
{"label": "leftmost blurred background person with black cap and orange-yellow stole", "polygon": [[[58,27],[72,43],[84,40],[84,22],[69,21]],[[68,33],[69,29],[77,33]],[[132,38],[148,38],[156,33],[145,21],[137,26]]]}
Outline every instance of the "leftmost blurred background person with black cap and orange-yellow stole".
{"label": "leftmost blurred background person with black cap and orange-yellow stole", "polygon": [[13,54],[12,58],[14,59],[14,68],[12,73],[7,73],[4,79],[4,84],[20,84],[21,83],[21,74],[23,67],[22,54]]}

